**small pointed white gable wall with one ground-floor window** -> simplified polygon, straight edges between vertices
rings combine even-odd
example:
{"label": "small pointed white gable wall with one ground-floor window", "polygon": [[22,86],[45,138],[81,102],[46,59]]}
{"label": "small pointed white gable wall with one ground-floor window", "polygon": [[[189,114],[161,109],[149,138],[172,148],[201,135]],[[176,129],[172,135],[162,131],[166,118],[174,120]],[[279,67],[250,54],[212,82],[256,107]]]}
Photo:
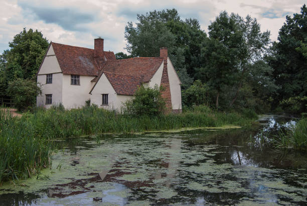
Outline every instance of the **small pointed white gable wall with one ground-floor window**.
{"label": "small pointed white gable wall with one ground-floor window", "polygon": [[[102,106],[101,94],[108,94],[108,106]],[[91,105],[92,104],[98,105],[98,107],[104,108],[106,110],[118,109],[118,104],[116,102],[116,92],[112,87],[111,83],[109,82],[109,80],[107,79],[107,77],[105,76],[105,74],[101,75],[96,86],[92,90]]]}

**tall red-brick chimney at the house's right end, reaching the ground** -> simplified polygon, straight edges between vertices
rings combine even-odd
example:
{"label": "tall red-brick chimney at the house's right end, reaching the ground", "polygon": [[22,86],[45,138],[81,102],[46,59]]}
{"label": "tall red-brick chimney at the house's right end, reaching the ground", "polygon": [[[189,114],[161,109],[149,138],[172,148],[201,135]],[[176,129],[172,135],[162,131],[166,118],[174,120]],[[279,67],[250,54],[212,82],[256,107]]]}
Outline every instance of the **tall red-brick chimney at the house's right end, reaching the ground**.
{"label": "tall red-brick chimney at the house's right end, reaching the ground", "polygon": [[168,74],[168,48],[161,47],[160,48],[160,57],[164,59],[163,72],[161,85],[164,87],[164,91],[162,91],[161,96],[165,99],[166,103],[166,111],[165,113],[171,113],[173,111],[172,99],[171,99],[171,88]]}

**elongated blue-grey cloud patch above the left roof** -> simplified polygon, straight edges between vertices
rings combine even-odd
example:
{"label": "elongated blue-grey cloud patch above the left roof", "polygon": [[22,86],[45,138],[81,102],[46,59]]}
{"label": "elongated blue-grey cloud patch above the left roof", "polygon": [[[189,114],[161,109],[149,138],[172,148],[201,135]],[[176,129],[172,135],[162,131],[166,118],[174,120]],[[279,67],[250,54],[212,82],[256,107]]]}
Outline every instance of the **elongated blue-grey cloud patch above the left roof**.
{"label": "elongated blue-grey cloud patch above the left roof", "polygon": [[84,13],[76,8],[52,8],[52,7],[35,7],[27,3],[19,3],[24,9],[25,16],[33,16],[45,23],[58,24],[63,29],[70,31],[87,30],[84,24],[92,23],[95,20],[93,13]]}

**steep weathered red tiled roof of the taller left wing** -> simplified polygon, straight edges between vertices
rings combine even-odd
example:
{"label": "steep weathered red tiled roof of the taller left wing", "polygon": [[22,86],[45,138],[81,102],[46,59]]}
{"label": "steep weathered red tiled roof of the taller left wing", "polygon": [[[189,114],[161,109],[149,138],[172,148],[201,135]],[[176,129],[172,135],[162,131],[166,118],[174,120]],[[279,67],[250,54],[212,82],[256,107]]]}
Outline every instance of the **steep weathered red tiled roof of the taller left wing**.
{"label": "steep weathered red tiled roof of the taller left wing", "polygon": [[[94,50],[52,42],[60,68],[64,74],[97,76],[100,68],[94,59]],[[104,52],[107,60],[114,60],[113,52]]]}

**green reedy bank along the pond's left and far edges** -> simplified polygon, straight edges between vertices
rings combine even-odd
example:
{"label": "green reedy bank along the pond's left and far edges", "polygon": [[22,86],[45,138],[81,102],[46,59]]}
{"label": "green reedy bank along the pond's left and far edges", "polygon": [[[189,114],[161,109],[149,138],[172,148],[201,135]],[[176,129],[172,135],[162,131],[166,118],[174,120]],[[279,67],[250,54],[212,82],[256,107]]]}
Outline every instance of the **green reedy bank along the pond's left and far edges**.
{"label": "green reedy bank along the pond's left and far edges", "polygon": [[99,133],[131,133],[183,127],[245,125],[256,119],[250,111],[220,113],[196,108],[160,117],[120,115],[97,107],[37,109],[21,118],[0,112],[0,182],[26,178],[51,164],[51,139]]}

